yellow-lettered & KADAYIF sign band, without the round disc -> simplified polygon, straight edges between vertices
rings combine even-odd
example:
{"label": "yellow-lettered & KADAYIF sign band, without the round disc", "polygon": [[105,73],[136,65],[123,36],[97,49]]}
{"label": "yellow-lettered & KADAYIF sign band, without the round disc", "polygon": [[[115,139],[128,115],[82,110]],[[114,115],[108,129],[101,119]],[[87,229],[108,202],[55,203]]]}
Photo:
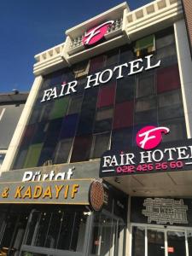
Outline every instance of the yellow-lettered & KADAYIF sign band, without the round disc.
{"label": "yellow-lettered & KADAYIF sign band, without the round disc", "polygon": [[89,205],[91,179],[0,183],[0,203]]}

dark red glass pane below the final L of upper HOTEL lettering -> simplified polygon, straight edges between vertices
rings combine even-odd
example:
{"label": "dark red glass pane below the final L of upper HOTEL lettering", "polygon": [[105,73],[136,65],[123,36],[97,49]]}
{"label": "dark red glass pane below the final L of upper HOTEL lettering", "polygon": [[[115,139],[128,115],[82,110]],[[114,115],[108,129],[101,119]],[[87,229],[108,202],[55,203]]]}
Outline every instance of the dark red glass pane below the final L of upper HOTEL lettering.
{"label": "dark red glass pane below the final L of upper HOTEL lettering", "polygon": [[180,87],[177,65],[161,68],[157,71],[157,92],[175,90]]}

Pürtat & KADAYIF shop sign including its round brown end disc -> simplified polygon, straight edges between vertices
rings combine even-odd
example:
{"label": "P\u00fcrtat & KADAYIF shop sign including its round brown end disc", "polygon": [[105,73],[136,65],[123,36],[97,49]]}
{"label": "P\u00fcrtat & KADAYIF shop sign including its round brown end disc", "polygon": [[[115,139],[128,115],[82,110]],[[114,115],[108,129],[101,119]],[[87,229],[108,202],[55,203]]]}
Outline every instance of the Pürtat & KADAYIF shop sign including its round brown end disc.
{"label": "P\u00fcrtat & KADAYIF shop sign including its round brown end disc", "polygon": [[99,211],[104,203],[104,190],[101,180],[77,178],[74,166],[3,172],[1,203],[90,205]]}

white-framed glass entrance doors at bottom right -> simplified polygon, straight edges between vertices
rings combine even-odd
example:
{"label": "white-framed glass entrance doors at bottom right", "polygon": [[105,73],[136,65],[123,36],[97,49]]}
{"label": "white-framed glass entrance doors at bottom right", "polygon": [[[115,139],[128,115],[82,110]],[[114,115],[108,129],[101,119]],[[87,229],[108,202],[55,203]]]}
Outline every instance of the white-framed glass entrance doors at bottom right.
{"label": "white-framed glass entrance doors at bottom right", "polygon": [[192,228],[132,224],[131,256],[192,256]]}

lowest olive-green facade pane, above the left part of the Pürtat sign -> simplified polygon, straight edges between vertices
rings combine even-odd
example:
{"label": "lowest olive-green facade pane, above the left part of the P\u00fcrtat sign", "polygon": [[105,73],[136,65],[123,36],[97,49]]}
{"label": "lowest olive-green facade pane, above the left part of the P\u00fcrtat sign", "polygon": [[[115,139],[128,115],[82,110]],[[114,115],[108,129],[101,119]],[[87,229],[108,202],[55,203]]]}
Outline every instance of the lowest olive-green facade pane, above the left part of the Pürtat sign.
{"label": "lowest olive-green facade pane, above the left part of the P\u00fcrtat sign", "polygon": [[43,143],[33,144],[29,147],[23,168],[35,167],[38,165],[38,159],[39,155],[41,154],[42,148]]}

